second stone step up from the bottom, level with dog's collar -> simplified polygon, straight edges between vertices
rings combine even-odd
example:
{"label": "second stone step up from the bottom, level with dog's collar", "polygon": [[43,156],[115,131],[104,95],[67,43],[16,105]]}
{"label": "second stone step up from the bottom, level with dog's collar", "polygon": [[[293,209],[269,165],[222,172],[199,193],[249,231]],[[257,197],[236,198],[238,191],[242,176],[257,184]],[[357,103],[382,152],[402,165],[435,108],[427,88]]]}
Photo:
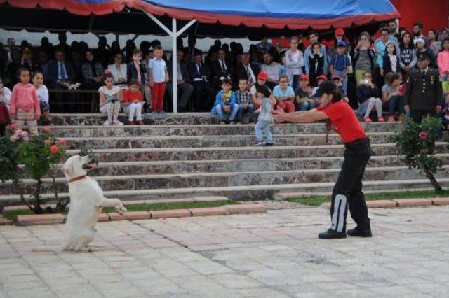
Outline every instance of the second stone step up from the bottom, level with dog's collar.
{"label": "second stone step up from the bottom, level with dog's collar", "polygon": [[[231,173],[187,173],[166,175],[124,175],[124,176],[98,176],[102,190],[146,190],[157,188],[189,188],[189,187],[225,187],[243,185],[272,185],[333,182],[338,178],[340,169],[311,169],[299,171],[257,171],[257,172],[231,172]],[[449,166],[443,166],[436,174],[436,178],[449,177]],[[409,170],[406,166],[367,168],[366,180],[403,180],[425,178],[420,171]],[[51,179],[43,179],[41,193],[53,192]],[[68,192],[65,178],[57,178],[58,192]],[[26,193],[34,185],[34,180],[23,180]],[[14,192],[14,185],[9,181],[1,187],[0,194]]]}

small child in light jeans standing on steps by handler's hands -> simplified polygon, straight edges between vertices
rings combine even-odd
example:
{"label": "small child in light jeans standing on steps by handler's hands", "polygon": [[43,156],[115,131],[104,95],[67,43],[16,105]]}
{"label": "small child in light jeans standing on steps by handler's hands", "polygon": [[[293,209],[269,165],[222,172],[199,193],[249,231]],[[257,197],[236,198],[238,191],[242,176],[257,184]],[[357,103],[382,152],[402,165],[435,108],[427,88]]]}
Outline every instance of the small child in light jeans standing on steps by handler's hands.
{"label": "small child in light jeans standing on steps by handler's hands", "polygon": [[[273,136],[272,131],[270,129],[270,124],[273,121],[272,111],[273,107],[276,104],[276,99],[271,96],[271,92],[269,91],[267,86],[257,86],[257,99],[262,101],[260,105],[259,118],[257,119],[257,124],[254,127],[255,137],[257,139],[257,143],[255,146],[273,146]],[[264,142],[262,136],[262,130],[265,133],[265,137],[267,138],[267,142]]]}

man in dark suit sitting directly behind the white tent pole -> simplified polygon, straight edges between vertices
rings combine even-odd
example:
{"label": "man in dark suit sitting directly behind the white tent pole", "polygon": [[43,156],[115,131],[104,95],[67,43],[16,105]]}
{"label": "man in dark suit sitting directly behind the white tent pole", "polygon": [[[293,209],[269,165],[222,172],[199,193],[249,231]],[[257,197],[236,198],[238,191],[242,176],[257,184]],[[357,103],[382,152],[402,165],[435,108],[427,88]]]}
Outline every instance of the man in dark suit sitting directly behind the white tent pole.
{"label": "man in dark suit sitting directly behind the white tent pole", "polygon": [[[187,102],[190,96],[194,92],[194,87],[189,82],[189,72],[187,71],[187,65],[182,62],[184,58],[184,51],[177,50],[177,108],[179,112],[185,112]],[[173,59],[173,57],[172,57]],[[170,100],[173,101],[173,61],[167,63],[168,77],[170,80],[167,83],[168,95]]]}

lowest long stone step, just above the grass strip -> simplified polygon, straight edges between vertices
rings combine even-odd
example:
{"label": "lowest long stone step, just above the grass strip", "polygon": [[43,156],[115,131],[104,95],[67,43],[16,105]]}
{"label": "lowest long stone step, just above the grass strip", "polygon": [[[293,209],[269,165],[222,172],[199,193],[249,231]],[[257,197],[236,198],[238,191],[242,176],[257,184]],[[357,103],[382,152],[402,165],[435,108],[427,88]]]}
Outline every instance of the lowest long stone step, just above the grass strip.
{"label": "lowest long stone step, just above the grass strip", "polygon": [[[449,185],[449,178],[437,179],[443,187]],[[169,188],[153,190],[111,190],[105,191],[105,197],[116,197],[123,200],[135,199],[166,199],[176,197],[194,197],[219,195],[232,199],[267,199],[273,198],[278,192],[330,192],[335,182],[325,183],[300,183],[300,184],[276,184],[276,185],[244,185],[225,187],[191,187]],[[363,181],[363,190],[413,190],[429,187],[428,179],[406,179],[387,181]],[[60,193],[60,197],[67,197],[67,193]],[[51,194],[43,194],[42,199],[54,199]],[[0,203],[5,206],[20,203],[17,194],[0,195]]]}

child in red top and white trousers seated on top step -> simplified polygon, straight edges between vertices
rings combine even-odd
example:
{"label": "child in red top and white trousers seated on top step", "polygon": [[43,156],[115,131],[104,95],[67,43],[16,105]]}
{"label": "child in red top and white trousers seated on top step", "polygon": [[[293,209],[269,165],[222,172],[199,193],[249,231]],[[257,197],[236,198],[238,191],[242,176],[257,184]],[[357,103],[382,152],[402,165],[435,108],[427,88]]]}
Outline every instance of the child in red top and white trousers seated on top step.
{"label": "child in red top and white trousers seated on top step", "polygon": [[126,125],[134,125],[134,114],[135,114],[135,124],[143,125],[142,122],[142,106],[143,98],[142,92],[140,91],[140,85],[137,80],[130,80],[128,83],[128,89],[123,92],[123,112],[128,114],[128,122]]}

